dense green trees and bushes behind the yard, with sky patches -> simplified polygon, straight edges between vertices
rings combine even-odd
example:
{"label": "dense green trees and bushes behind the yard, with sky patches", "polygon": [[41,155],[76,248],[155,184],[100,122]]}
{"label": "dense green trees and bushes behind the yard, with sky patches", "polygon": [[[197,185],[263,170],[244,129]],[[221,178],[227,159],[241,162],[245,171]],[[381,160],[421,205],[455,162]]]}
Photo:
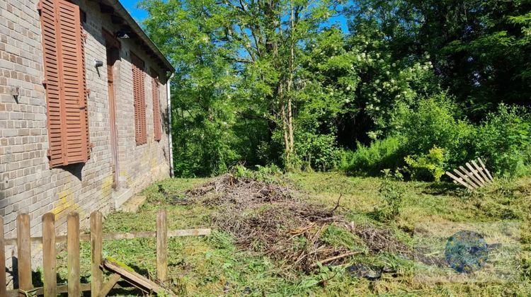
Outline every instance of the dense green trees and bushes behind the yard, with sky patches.
{"label": "dense green trees and bushes behind the yard, with sky patches", "polygon": [[529,171],[529,1],[140,6],[178,69],[178,176],[244,163],[438,180],[478,156],[496,175]]}

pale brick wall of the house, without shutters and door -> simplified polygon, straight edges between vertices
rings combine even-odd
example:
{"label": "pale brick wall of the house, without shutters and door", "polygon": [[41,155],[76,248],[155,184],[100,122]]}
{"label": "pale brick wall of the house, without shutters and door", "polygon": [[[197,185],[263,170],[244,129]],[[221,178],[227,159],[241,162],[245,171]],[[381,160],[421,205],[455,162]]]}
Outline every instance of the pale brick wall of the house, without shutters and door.
{"label": "pale brick wall of the house, without shutters and door", "polygon": [[[169,176],[166,86],[161,92],[163,137],[154,141],[151,78],[145,79],[148,143],[135,144],[130,50],[164,75],[163,69],[135,42],[120,40],[120,60],[115,64],[116,122],[120,189],[114,190],[110,151],[110,112],[108,106],[105,41],[102,28],[119,28],[102,14],[94,1],[77,2],[86,12],[86,81],[89,132],[93,144],[86,164],[50,169],[47,159],[45,89],[42,86],[42,45],[38,0],[0,1],[0,215],[6,237],[16,236],[16,216],[30,214],[32,235],[40,235],[41,216],[56,214],[58,232],[66,230],[66,216],[78,211],[88,219],[91,211],[110,211],[116,199],[125,199],[150,182]],[[96,69],[95,59],[103,61]],[[161,83],[166,83],[164,80]],[[18,97],[11,95],[18,87]],[[120,200],[122,201],[122,200]],[[85,225],[86,226],[86,225]]]}

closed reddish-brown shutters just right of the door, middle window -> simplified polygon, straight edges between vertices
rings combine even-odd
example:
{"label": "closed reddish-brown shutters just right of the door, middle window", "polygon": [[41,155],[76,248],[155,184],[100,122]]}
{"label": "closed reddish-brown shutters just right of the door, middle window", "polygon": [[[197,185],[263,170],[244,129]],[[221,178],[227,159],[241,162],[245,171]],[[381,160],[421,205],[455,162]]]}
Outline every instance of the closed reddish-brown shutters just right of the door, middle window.
{"label": "closed reddish-brown shutters just right of the door, middle window", "polygon": [[137,146],[147,144],[146,90],[144,86],[144,61],[131,52],[133,98],[135,105],[135,139]]}

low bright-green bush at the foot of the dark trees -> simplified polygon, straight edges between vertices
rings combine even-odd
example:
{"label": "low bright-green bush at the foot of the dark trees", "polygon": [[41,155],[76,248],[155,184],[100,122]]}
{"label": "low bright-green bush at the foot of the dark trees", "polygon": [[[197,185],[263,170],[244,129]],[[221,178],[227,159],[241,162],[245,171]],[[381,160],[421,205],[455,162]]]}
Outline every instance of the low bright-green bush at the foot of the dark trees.
{"label": "low bright-green bush at the foot of the dark trees", "polygon": [[343,156],[342,163],[348,164],[344,169],[352,175],[379,175],[384,169],[399,168],[404,165],[405,143],[406,139],[401,136],[376,140],[370,146],[358,142],[356,151]]}

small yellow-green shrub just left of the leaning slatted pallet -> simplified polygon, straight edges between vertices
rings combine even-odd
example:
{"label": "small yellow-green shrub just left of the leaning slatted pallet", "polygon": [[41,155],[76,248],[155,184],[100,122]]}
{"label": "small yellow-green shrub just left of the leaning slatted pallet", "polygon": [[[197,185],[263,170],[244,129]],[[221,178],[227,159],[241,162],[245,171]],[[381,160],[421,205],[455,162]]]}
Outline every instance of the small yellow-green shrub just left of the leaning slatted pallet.
{"label": "small yellow-green shrub just left of the leaning slatted pallet", "polygon": [[404,159],[409,166],[411,177],[416,180],[440,181],[445,174],[445,150],[433,146],[430,151],[421,156],[406,156]]}

